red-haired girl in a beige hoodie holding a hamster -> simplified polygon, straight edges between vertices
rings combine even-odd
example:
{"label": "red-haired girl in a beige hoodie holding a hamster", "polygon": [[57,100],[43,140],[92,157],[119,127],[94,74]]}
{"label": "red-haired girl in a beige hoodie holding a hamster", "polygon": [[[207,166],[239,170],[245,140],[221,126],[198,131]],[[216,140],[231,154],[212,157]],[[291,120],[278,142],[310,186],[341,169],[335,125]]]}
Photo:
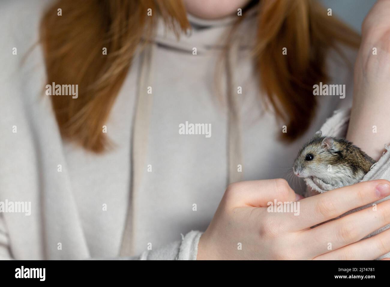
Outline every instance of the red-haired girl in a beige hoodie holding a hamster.
{"label": "red-haired girl in a beige hoodie holding a hamster", "polygon": [[[2,6],[0,200],[31,204],[30,216],[0,213],[3,258],[374,259],[390,251],[389,231],[359,241],[390,223],[386,202],[380,222],[360,211],[309,228],[385,198],[386,180],[302,199],[303,186],[290,181],[294,192],[281,179],[300,146],[352,103],[360,37],[317,2]],[[362,107],[387,53],[370,54],[385,43],[388,25],[372,30],[386,18],[381,8],[363,27],[348,135],[376,159],[388,135],[373,140],[362,123],[371,127],[374,107],[388,100],[377,93],[372,109]],[[314,95],[320,83],[346,93]],[[378,127],[388,118],[379,112]],[[267,212],[274,200],[299,200],[299,216]]]}

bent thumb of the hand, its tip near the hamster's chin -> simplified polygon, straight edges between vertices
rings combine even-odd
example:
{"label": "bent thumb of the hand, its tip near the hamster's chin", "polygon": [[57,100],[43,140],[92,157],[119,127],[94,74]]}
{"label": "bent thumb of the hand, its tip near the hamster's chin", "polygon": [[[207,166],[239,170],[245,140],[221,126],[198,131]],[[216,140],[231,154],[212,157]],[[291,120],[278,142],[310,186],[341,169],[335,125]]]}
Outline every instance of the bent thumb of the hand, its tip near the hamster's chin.
{"label": "bent thumb of the hand, its tip near the hamster's chin", "polygon": [[285,179],[251,180],[230,184],[225,192],[230,207],[267,207],[274,201],[299,200]]}

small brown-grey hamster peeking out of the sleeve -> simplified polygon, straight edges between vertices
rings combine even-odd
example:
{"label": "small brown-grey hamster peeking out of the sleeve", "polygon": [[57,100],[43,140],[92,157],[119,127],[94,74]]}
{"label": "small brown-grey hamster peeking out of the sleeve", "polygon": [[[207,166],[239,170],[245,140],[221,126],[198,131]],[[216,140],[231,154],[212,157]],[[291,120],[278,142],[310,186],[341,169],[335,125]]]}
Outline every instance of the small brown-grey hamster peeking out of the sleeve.
{"label": "small brown-grey hamster peeking out of the sleeve", "polygon": [[293,171],[298,177],[342,187],[358,183],[374,163],[375,160],[353,143],[323,136],[318,131],[299,151]]}

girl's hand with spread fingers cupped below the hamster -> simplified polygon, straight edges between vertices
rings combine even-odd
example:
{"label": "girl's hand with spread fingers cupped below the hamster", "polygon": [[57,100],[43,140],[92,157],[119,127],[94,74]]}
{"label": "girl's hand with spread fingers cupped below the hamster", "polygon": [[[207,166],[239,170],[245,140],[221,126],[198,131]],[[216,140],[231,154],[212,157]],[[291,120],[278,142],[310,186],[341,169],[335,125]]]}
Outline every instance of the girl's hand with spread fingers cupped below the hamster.
{"label": "girl's hand with spread fingers cupped below the hamster", "polygon": [[[200,237],[203,259],[359,259],[371,260],[390,251],[390,229],[363,237],[390,223],[390,200],[329,221],[390,194],[387,180],[361,182],[296,202],[294,212],[268,212],[274,200],[296,201],[284,179],[229,185],[206,232]],[[240,248],[241,246],[241,248]]]}

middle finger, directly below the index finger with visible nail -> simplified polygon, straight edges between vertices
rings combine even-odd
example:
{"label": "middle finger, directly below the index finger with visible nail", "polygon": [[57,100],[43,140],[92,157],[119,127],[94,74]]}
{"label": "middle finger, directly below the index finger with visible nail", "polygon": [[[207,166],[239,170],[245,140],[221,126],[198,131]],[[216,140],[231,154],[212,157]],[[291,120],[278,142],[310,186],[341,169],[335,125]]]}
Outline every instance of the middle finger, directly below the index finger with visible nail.
{"label": "middle finger, directly below the index finger with visible nail", "polygon": [[[366,208],[301,233],[308,257],[339,249],[359,241],[382,226],[390,224],[390,200],[379,203],[375,209]],[[313,240],[317,238],[317,240]],[[332,250],[329,250],[332,246]]]}

